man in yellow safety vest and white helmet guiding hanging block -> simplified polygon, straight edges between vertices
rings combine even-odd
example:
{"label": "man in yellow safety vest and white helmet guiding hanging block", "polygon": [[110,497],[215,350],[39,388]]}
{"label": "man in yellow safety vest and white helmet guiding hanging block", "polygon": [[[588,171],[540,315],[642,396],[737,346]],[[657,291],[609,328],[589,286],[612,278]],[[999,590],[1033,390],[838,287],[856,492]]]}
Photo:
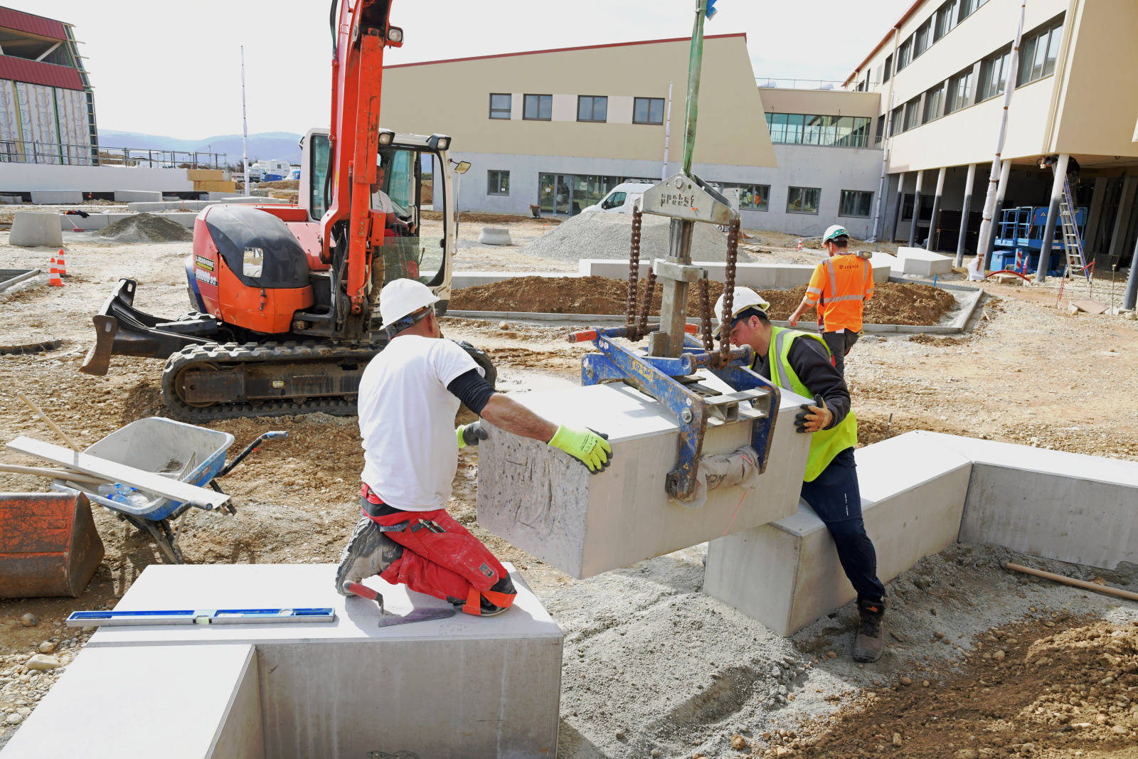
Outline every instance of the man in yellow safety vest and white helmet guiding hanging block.
{"label": "man in yellow safety vest and white helmet guiding hanging block", "polygon": [[[723,314],[723,302],[719,296],[716,314]],[[729,323],[716,327],[715,335],[727,329],[732,345],[754,348],[756,372],[785,390],[813,398],[802,404],[797,418],[797,430],[813,434],[801,498],[825,522],[842,569],[857,591],[860,622],[853,659],[876,661],[884,647],[885,587],[877,579],[877,554],[861,519],[853,461],[857,419],[850,411],[850,393],[825,341],[816,333],[775,327],[767,316],[769,306],[754,290],[736,287]]]}

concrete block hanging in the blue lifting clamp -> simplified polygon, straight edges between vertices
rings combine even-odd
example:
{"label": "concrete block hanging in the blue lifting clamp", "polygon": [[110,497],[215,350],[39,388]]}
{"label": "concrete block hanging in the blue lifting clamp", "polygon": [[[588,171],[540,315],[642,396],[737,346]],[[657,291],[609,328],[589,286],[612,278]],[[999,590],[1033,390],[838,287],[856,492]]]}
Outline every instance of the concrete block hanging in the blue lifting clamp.
{"label": "concrete block hanging in the blue lifting clamp", "polygon": [[[714,378],[706,380],[717,385]],[[719,387],[724,387],[719,385]],[[783,393],[773,451],[757,489],[711,490],[692,509],[669,502],[665,478],[675,465],[679,427],[660,404],[630,387],[600,385],[513,396],[552,420],[607,432],[613,459],[591,475],[549,446],[490,428],[478,449],[478,523],[577,578],[678,551],[794,513],[809,439],[794,432],[805,399]],[[750,440],[750,419],[709,423],[704,454]]]}

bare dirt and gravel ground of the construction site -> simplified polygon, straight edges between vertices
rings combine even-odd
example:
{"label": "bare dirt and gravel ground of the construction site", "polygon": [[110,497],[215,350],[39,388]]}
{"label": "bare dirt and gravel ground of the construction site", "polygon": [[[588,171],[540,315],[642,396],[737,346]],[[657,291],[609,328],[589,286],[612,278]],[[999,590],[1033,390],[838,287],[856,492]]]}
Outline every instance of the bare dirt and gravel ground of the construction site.
{"label": "bare dirt and gravel ground of the construction site", "polygon": [[[511,222],[509,226],[512,234],[519,230],[519,238],[522,230],[542,233],[536,221]],[[470,241],[477,231],[473,223],[467,224],[461,236]],[[776,238],[769,232],[756,234],[767,245]],[[93,343],[90,315],[118,277],[139,281],[135,305],[145,311],[178,315],[188,310],[183,259],[190,255],[190,244],[115,245],[76,233],[65,233],[65,241],[69,273],[65,287],[49,288],[46,277],[40,277],[0,294],[0,311],[6,316],[0,324],[0,346],[60,341],[50,352],[0,355],[0,438],[5,442],[18,435],[58,442],[16,399],[17,390],[36,399],[83,444],[134,419],[164,413],[158,393],[162,362],[116,357],[106,378],[88,377],[77,366]],[[803,263],[817,259],[814,250],[773,249],[772,256],[814,256]],[[0,232],[0,267],[47,270],[53,253],[10,247],[7,233]],[[549,263],[541,261],[544,269],[550,269]],[[461,248],[456,264],[463,270],[542,267],[528,261],[520,247]],[[1082,287],[1080,297],[1086,290]],[[1110,282],[1096,279],[1095,287],[1096,297],[1103,299]],[[1138,406],[1133,403],[1138,397],[1138,323],[1057,310],[1055,284],[984,283],[983,288],[989,296],[970,331],[960,336],[866,336],[855,346],[847,361],[847,378],[859,420],[859,442],[882,439],[887,430],[893,436],[930,429],[1138,461]],[[500,366],[504,391],[579,382],[584,348],[564,341],[568,324],[535,327],[446,317],[443,328],[447,337],[468,339],[488,350]],[[362,455],[355,419],[318,414],[223,421],[208,427],[231,432],[234,452],[269,429],[287,430],[289,438],[266,444],[224,478],[238,509],[236,515],[192,512],[181,538],[188,560],[335,562],[358,513]],[[7,452],[2,460],[38,463]],[[562,694],[561,757],[648,757],[653,756],[653,749],[663,757],[1138,756],[1133,736],[1138,721],[1129,701],[1138,698],[1133,695],[1138,691],[1129,690],[1138,686],[1133,679],[1138,669],[1136,634],[1129,621],[1138,605],[1131,602],[1114,599],[1107,603],[1095,594],[1086,599],[1087,594],[1071,588],[1017,578],[996,583],[993,577],[1006,575],[998,567],[988,567],[981,575],[971,566],[957,566],[964,554],[946,554],[937,566],[948,569],[938,571],[959,572],[953,583],[971,581],[968,603],[951,595],[947,600],[924,599],[927,592],[905,579],[916,575],[894,580],[890,584],[894,605],[890,619],[897,625],[891,629],[901,630],[904,641],[891,638],[887,659],[863,669],[848,659],[850,609],[841,610],[834,619],[819,620],[818,629],[807,636],[774,638],[767,632],[764,637],[760,625],[699,592],[702,567],[698,547],[589,580],[572,580],[478,526],[476,475],[477,453],[464,449],[447,508],[503,560],[520,569],[566,630],[564,682],[570,683],[569,674],[595,673],[589,675],[593,679],[572,680],[589,684],[588,690],[579,685]],[[40,492],[47,484],[31,476],[0,473],[0,490],[5,492]],[[59,646],[57,652],[76,651],[84,636],[68,637],[71,633],[57,622],[76,609],[113,605],[139,572],[163,562],[157,546],[127,523],[102,509],[96,510],[94,519],[106,556],[82,596],[0,601],[0,711],[18,713],[19,709],[34,708],[50,687],[52,678],[47,676],[23,682],[25,676],[32,678],[20,671],[19,657],[46,641]],[[1130,581],[1128,577],[1106,579],[1121,584]],[[643,602],[612,611],[611,619],[596,610],[595,604],[611,595],[612,588],[633,587],[643,588]],[[715,636],[702,638],[703,643],[684,643],[677,649],[683,653],[679,658],[690,660],[694,668],[685,669],[683,676],[674,663],[676,651],[657,646],[657,653],[648,653],[655,640],[651,632],[655,617],[677,613],[659,601],[661,588],[674,607],[679,603],[699,609],[708,629],[716,630]],[[1049,604],[1046,611],[1039,605],[1038,613],[1023,617],[1029,613],[1029,602],[1045,596]],[[1008,600],[1019,605],[1005,609],[1001,604]],[[923,611],[924,617],[920,617],[917,612],[930,605],[940,609],[940,616]],[[39,618],[36,626],[22,625],[20,617],[27,612]],[[679,626],[669,622],[669,630],[693,625],[687,617],[675,619]],[[931,629],[920,628],[921,619],[943,625],[956,645],[943,645]],[[954,619],[958,628],[949,626]],[[620,637],[618,628],[628,636]],[[923,632],[913,632],[917,629]],[[638,647],[627,654],[640,662],[641,669],[629,669],[629,677],[635,671],[635,678],[620,674],[622,663],[613,665],[619,670],[608,668],[603,658],[596,665],[600,669],[582,663],[592,663],[588,652],[602,640],[601,632],[626,645],[636,635],[646,636],[637,638]],[[737,661],[709,653],[717,636],[735,636],[729,655]],[[998,647],[1006,647],[1005,658],[993,665],[984,654]],[[831,650],[836,659],[827,655]],[[582,655],[575,655],[577,652]],[[703,690],[704,684],[729,677],[726,677],[744,665],[758,667],[743,661],[751,655],[762,657],[761,666],[769,670],[773,652],[800,662],[805,671],[793,676],[799,678],[793,680],[798,685],[790,688],[790,695],[798,694],[797,701],[776,709],[757,707],[753,700],[736,703],[726,699],[716,702],[719,706],[708,702],[712,691]],[[1040,658],[1049,663],[1041,665]],[[809,669],[805,669],[806,663]],[[702,675],[688,676],[696,669]],[[641,686],[670,671],[678,677],[669,685],[671,691],[659,690],[681,693],[681,698],[653,701]],[[905,685],[901,677],[913,683]],[[1111,682],[1105,682],[1107,678]],[[3,682],[7,679],[11,682]],[[1123,709],[1125,706],[1130,709]],[[640,713],[637,710],[652,710],[652,719],[636,723],[632,715]],[[671,719],[665,719],[666,715],[675,715],[670,727],[662,724]],[[8,735],[14,729],[0,727]],[[629,731],[628,737],[615,737],[617,729],[621,735]],[[893,742],[893,733],[899,735],[900,745]],[[740,750],[731,748],[736,734]],[[823,736],[830,737],[824,743],[816,740]],[[0,734],[0,744],[3,741]]]}

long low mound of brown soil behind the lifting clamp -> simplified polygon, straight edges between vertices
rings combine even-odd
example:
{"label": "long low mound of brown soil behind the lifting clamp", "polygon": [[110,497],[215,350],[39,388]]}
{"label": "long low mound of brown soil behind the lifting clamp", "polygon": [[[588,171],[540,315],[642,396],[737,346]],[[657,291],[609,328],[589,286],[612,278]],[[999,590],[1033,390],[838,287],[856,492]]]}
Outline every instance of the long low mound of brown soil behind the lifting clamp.
{"label": "long low mound of brown soil behind the lifting clamp", "polygon": [[[711,305],[723,292],[720,282],[709,282]],[[644,297],[644,280],[638,284],[637,302]],[[793,290],[764,290],[775,320],[787,319],[806,294],[806,286]],[[652,297],[652,314],[660,313],[661,288]],[[455,290],[453,311],[512,311],[554,314],[622,314],[628,299],[628,283],[605,277],[516,277]],[[884,282],[866,304],[869,324],[937,324],[956,304],[953,295],[931,284]],[[810,310],[803,320],[816,317]],[[699,316],[699,291],[688,288],[687,315]]]}

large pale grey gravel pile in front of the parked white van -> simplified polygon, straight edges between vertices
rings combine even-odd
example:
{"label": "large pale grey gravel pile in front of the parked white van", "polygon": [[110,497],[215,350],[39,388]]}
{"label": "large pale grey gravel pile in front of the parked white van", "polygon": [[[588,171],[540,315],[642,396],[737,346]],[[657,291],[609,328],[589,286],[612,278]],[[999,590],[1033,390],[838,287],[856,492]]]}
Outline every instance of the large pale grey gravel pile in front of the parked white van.
{"label": "large pale grey gravel pile in front of the parked white van", "polygon": [[[632,241],[630,214],[577,214],[539,239],[530,242],[522,253],[560,261],[580,258],[628,258]],[[662,258],[668,255],[668,220],[644,214],[641,225],[641,259]],[[692,233],[693,261],[726,261],[727,236],[711,224],[696,224]],[[740,251],[740,261],[750,257]]]}

